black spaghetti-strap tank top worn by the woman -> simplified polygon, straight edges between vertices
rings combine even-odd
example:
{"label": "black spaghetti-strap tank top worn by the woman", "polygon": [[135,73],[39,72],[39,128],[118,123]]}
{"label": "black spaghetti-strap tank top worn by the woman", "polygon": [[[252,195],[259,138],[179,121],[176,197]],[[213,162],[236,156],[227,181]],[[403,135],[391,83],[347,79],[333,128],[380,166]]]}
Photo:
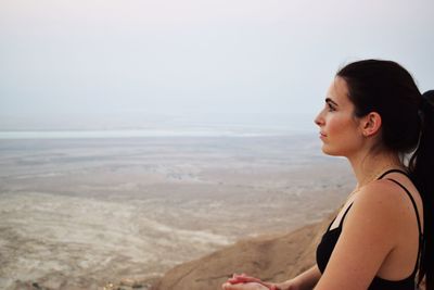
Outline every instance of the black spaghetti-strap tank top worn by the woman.
{"label": "black spaghetti-strap tank top worn by the woman", "polygon": [[[382,179],[384,176],[386,176],[387,174],[393,173],[393,172],[398,172],[398,173],[401,173],[404,175],[407,175],[403,171],[391,169],[391,171],[387,171],[387,172],[383,173],[378,179]],[[407,190],[407,188],[405,188],[401,184],[399,184],[398,181],[396,181],[394,179],[391,179],[391,178],[387,178],[387,179],[394,181],[395,184],[397,184],[400,188],[403,188],[406,191],[406,193],[410,198],[411,203],[412,203],[412,205],[414,207],[416,217],[418,219],[418,227],[419,227],[419,252],[418,252],[418,259],[417,259],[413,272],[407,278],[405,278],[403,280],[392,281],[392,280],[382,279],[382,278],[375,276],[368,289],[369,290],[382,290],[382,289],[387,289],[387,290],[414,290],[416,289],[414,278],[416,278],[416,274],[417,274],[418,268],[419,268],[420,250],[421,250],[421,244],[422,244],[422,241],[423,241],[421,224],[420,224],[420,218],[419,218],[419,212],[418,212],[418,207],[416,205],[414,199],[411,197],[411,194]],[[352,206],[353,206],[353,203],[345,211],[344,215],[341,218],[340,225],[336,228],[330,229],[330,227],[332,226],[334,220],[330,224],[329,228],[327,229],[327,231],[322,236],[322,239],[321,239],[320,243],[318,244],[318,248],[317,248],[317,264],[318,264],[318,268],[319,268],[319,270],[321,273],[324,273],[324,270],[326,270],[327,264],[329,263],[329,260],[330,260],[330,256],[332,255],[333,249],[334,249],[334,247],[335,247],[335,244],[337,242],[339,237],[341,236],[342,225],[343,225],[343,222],[345,219],[345,216],[346,216],[346,214],[348,213],[348,211],[349,211],[349,209]]]}

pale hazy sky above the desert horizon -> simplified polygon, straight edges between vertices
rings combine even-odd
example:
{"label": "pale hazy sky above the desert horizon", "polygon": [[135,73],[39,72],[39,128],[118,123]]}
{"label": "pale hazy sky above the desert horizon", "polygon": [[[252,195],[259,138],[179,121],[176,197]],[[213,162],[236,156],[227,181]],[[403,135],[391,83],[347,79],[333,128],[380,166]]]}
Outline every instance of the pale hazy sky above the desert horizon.
{"label": "pale hazy sky above the desert horizon", "polygon": [[0,0],[0,119],[314,115],[339,66],[362,58],[395,60],[433,89],[433,11],[432,0]]}

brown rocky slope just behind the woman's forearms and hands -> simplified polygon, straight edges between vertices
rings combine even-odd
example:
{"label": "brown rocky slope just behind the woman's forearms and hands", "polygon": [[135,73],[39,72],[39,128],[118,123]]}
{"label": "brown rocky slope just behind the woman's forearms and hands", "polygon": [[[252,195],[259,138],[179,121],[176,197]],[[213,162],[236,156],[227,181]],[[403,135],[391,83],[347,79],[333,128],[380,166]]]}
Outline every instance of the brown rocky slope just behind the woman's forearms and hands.
{"label": "brown rocky slope just behind the woman's forearms and hands", "polygon": [[153,287],[154,290],[220,289],[232,273],[281,281],[309,268],[327,220],[283,236],[240,241],[202,259],[181,264]]}

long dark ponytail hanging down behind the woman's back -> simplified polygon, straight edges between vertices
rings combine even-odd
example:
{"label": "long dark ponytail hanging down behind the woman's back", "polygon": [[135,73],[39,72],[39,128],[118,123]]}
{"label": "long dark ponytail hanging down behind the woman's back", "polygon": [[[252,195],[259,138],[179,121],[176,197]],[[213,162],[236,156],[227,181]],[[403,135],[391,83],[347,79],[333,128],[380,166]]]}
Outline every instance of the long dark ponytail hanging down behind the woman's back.
{"label": "long dark ponytail hanging down behind the woman's back", "polygon": [[411,178],[423,201],[423,241],[418,283],[434,290],[434,90],[422,94],[419,146],[410,159]]}

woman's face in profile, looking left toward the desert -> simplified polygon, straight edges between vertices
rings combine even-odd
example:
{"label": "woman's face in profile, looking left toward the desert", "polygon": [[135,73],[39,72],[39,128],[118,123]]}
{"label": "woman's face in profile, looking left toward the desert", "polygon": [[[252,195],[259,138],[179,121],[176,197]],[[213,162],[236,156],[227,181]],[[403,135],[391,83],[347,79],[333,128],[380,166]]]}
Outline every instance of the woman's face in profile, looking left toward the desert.
{"label": "woman's face in profile, looking left toward the desert", "polygon": [[350,156],[362,146],[362,131],[347,96],[346,81],[335,77],[327,93],[324,109],[315,118],[326,154]]}

